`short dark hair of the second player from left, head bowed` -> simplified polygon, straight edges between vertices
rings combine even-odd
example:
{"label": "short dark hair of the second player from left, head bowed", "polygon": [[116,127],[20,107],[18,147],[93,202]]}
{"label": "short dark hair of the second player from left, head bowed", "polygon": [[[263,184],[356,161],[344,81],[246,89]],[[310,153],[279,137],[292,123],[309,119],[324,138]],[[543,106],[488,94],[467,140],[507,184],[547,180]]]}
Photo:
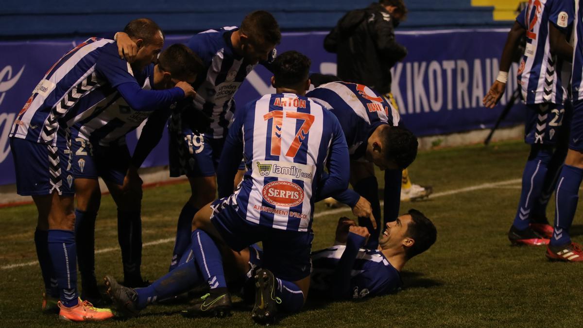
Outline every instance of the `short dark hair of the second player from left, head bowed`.
{"label": "short dark hair of the second player from left, head bowed", "polygon": [[184,81],[188,76],[201,74],[205,65],[200,57],[184,44],[173,44],[158,58],[160,69],[170,72],[173,78]]}

